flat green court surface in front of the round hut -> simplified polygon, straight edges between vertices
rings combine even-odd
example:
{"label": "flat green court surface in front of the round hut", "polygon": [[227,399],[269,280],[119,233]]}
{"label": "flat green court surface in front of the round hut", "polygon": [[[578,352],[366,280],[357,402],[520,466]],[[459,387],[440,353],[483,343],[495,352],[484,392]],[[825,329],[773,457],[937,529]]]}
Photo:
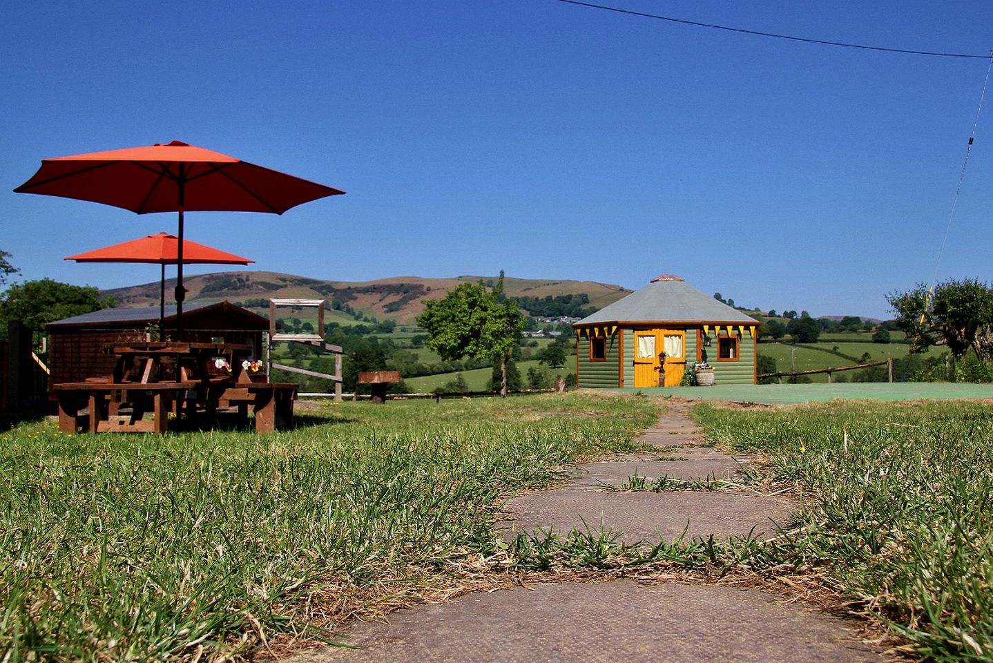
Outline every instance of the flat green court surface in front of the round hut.
{"label": "flat green court surface in front of the round hut", "polygon": [[935,398],[993,399],[993,384],[948,382],[842,382],[839,384],[740,384],[712,387],[653,387],[617,389],[652,396],[670,396],[735,403],[792,405],[834,399],[870,399],[875,401],[914,401]]}

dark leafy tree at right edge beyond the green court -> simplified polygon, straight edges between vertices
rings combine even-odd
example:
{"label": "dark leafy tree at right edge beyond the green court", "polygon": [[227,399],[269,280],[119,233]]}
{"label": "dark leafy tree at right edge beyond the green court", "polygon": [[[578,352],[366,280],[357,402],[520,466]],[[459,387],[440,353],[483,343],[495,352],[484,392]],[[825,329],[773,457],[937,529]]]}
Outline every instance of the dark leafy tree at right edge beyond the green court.
{"label": "dark leafy tree at right edge beyond the green court", "polygon": [[947,345],[956,359],[969,348],[980,359],[993,357],[993,288],[976,279],[939,283],[929,296],[919,284],[907,293],[892,293],[887,301],[897,313],[900,329],[911,340],[911,351]]}

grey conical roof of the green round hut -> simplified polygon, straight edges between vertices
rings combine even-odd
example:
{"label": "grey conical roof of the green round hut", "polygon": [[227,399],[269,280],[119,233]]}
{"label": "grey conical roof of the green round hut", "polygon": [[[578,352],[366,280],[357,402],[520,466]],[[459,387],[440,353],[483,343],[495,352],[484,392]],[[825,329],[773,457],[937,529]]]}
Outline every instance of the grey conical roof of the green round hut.
{"label": "grey conical roof of the green round hut", "polygon": [[705,295],[679,277],[665,275],[584,318],[576,326],[648,322],[758,324],[755,319]]}

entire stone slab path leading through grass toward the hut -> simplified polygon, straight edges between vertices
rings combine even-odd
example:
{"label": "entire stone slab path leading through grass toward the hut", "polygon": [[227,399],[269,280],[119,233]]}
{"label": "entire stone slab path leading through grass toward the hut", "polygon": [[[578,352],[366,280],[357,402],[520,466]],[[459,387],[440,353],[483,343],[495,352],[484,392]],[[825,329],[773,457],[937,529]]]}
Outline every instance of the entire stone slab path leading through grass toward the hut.
{"label": "entire stone slab path leading through grass toward the hut", "polygon": [[[685,535],[771,536],[794,508],[783,496],[742,492],[629,492],[605,489],[638,475],[729,478],[748,464],[701,447],[686,414],[669,404],[640,441],[658,452],[578,465],[563,487],[508,500],[505,537],[537,528],[621,531],[631,543]],[[678,459],[678,460],[677,460]],[[584,525],[583,521],[586,521]],[[685,534],[684,534],[685,533]],[[697,661],[884,661],[850,624],[761,589],[633,580],[543,583],[476,593],[398,610],[388,623],[353,624],[337,637],[356,649],[325,648],[296,663],[332,661],[610,661],[619,656]]]}

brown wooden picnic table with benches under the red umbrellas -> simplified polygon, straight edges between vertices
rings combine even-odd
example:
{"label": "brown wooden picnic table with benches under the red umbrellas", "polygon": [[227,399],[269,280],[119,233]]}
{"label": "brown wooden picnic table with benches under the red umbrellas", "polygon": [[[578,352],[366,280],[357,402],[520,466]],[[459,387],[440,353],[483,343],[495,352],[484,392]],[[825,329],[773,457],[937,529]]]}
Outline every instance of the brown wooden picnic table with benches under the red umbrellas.
{"label": "brown wooden picnic table with benches under the red umbrellas", "polygon": [[[299,385],[269,382],[245,370],[241,361],[250,354],[248,345],[162,341],[113,345],[104,351],[117,356],[111,375],[53,386],[60,430],[81,427],[82,407],[88,410],[86,429],[91,433],[165,433],[170,414],[215,420],[218,407],[232,405],[241,418],[252,407],[258,433],[292,424]],[[218,358],[226,368],[215,364]],[[121,415],[125,406],[130,413]]]}

